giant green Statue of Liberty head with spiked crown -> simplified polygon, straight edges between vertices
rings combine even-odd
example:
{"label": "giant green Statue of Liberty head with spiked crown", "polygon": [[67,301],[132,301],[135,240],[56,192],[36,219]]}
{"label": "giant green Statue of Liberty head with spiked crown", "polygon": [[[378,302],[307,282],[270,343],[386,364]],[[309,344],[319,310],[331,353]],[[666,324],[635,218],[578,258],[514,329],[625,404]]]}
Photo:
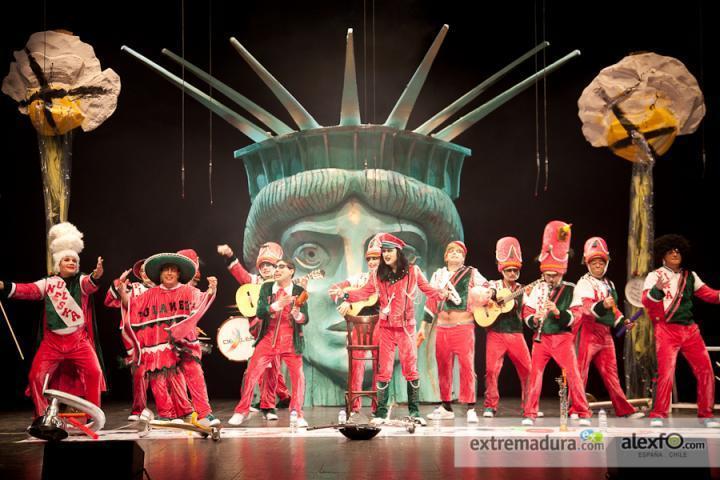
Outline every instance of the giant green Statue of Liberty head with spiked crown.
{"label": "giant green Statue of Liberty head with spiked crown", "polygon": [[[366,268],[367,245],[380,232],[392,233],[405,241],[411,247],[406,252],[410,259],[426,272],[442,266],[447,243],[463,239],[462,222],[453,200],[460,195],[463,161],[471,153],[450,142],[537,79],[579,54],[575,51],[567,55],[432,133],[508,71],[545,48],[548,44],[544,42],[415,130],[408,130],[408,119],[447,31],[447,25],[443,26],[387,120],[383,124],[363,124],[353,32],[348,30],[340,121],[330,127],[321,126],[245,47],[231,38],[230,43],[280,100],[298,130],[172,52],[163,50],[270,131],[123,47],[256,142],[235,152],[235,158],[245,164],[252,202],[244,234],[245,263],[253,264],[263,243],[279,241],[296,260],[299,274],[325,270],[323,280],[311,281],[308,286],[311,321],[304,332],[306,373],[312,379],[307,382],[309,404],[344,403],[348,368],[346,327],[327,295],[328,287]],[[416,311],[421,313],[422,308]],[[420,371],[428,375],[423,363],[421,358]],[[433,397],[430,382],[422,384],[421,395],[430,400]],[[397,399],[405,398],[404,388],[395,393]]]}

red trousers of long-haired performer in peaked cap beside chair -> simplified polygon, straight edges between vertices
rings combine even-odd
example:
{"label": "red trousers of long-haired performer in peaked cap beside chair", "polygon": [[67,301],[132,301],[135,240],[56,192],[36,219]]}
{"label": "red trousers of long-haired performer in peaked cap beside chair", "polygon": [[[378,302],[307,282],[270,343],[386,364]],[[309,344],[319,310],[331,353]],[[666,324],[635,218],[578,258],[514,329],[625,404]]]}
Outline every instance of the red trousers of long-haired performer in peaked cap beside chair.
{"label": "red trousers of long-haired performer in peaked cap beside chair", "polygon": [[[406,330],[407,329],[407,330]],[[417,372],[417,345],[415,326],[387,327],[380,325],[380,351],[378,359],[378,382],[389,382],[395,366],[395,348],[400,350],[400,366],[403,377],[408,381],[419,378]]]}

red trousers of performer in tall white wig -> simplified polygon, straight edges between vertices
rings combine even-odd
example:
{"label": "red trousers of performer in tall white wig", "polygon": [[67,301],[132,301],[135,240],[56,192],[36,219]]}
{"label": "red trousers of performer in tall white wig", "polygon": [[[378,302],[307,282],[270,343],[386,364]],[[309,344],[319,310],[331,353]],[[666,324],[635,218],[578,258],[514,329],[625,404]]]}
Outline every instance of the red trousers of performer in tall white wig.
{"label": "red trousers of performer in tall white wig", "polygon": [[102,370],[87,331],[81,328],[69,335],[57,335],[46,331],[28,375],[30,396],[35,404],[35,414],[38,416],[45,414],[48,405],[42,393],[45,376],[52,377],[63,361],[69,362],[77,370],[85,385],[85,400],[100,406]]}

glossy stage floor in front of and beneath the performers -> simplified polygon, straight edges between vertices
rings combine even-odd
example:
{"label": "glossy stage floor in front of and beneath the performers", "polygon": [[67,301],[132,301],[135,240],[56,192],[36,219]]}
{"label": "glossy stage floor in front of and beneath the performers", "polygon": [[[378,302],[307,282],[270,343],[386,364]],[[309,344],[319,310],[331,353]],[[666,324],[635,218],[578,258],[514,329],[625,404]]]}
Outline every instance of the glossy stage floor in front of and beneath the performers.
{"label": "glossy stage floor in front of and beneath the performers", "polygon": [[[543,437],[577,440],[588,427],[570,422],[568,432],[559,432],[557,407],[550,401],[543,402],[545,418],[538,419],[534,427],[521,427],[519,400],[504,400],[499,416],[480,419],[480,423],[468,426],[464,407],[456,406],[458,418],[446,420],[441,425],[429,422],[410,434],[401,427],[383,427],[380,434],[370,441],[351,441],[335,429],[320,429],[292,434],[288,428],[289,413],[278,410],[279,421],[268,422],[261,414],[254,414],[239,428],[225,428],[222,440],[214,442],[183,431],[155,429],[144,438],[133,430],[122,429],[128,424],[128,405],[111,403],[104,405],[107,423],[101,432],[101,440],[137,440],[145,452],[145,468],[149,478],[258,478],[278,480],[281,478],[546,478],[552,480],[604,479],[607,468],[548,468],[557,465],[546,454],[512,452],[510,457],[483,457],[481,464],[503,465],[496,468],[457,467],[457,450],[467,449],[473,438],[488,440],[496,438],[541,439]],[[232,414],[234,401],[213,402],[216,415],[223,421]],[[423,405],[424,415],[434,407]],[[305,411],[305,418],[312,425],[337,422],[340,407],[314,407]],[[480,411],[480,410],[478,410]],[[405,415],[407,408],[398,406],[393,417]],[[462,413],[462,415],[460,415]],[[720,430],[701,428],[694,412],[675,412],[663,429],[650,429],[648,419],[628,421],[609,418],[605,438],[657,436],[660,433],[680,433],[685,438],[702,438],[711,443],[710,458],[720,456]],[[25,434],[31,420],[30,411],[0,413],[0,478],[40,478],[44,442]],[[593,427],[597,431],[597,417]],[[71,437],[78,441],[91,441],[83,437]],[[467,458],[467,457],[466,457]],[[503,460],[504,458],[504,460]],[[511,465],[507,464],[510,458]],[[564,465],[575,465],[574,455],[563,455]],[[579,460],[578,460],[579,461]],[[500,462],[500,463],[497,463]],[[503,463],[505,462],[505,463]],[[73,464],[79,465],[73,461]],[[582,464],[582,463],[580,463]],[[578,464],[578,465],[580,465]],[[636,469],[632,469],[631,472]],[[680,474],[680,470],[669,472]],[[693,476],[682,470],[683,480]],[[636,471],[636,475],[639,474]],[[667,472],[666,472],[667,473]],[[697,473],[697,472],[696,472]],[[720,479],[720,469],[703,472],[705,478]],[[635,475],[635,478],[637,476]],[[709,475],[709,477],[708,477]],[[98,472],[98,478],[104,475]]]}

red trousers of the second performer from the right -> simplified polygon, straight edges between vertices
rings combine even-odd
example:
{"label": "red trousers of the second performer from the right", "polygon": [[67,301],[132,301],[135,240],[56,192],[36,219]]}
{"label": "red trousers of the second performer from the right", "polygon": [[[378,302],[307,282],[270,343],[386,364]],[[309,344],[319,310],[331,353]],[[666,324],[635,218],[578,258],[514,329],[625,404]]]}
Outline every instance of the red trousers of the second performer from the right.
{"label": "red trousers of the second performer from the right", "polygon": [[[602,327],[593,328],[592,323],[585,324],[580,328],[580,345],[578,347],[578,369],[583,386],[587,388],[587,378],[590,372],[590,363],[595,364],[598,373],[602,377],[605,388],[610,394],[610,401],[615,409],[615,415],[624,417],[635,413],[635,407],[630,405],[620,386],[620,378],[617,371],[617,359],[615,357],[615,343],[607,329]],[[577,413],[575,405],[570,408],[570,413]]]}

